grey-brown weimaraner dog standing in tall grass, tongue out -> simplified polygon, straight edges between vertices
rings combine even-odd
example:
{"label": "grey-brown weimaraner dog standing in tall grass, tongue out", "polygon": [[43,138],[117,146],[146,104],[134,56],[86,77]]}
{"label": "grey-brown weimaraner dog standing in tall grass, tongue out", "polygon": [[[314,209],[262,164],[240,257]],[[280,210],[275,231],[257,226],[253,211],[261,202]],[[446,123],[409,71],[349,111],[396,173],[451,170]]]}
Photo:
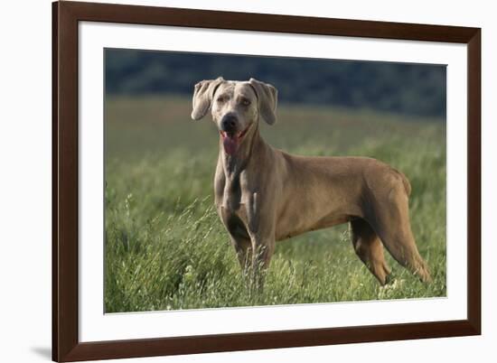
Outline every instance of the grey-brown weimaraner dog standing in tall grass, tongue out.
{"label": "grey-brown weimaraner dog standing in tall grass, tongue out", "polygon": [[259,120],[276,122],[277,88],[257,79],[197,83],[192,119],[210,110],[220,132],[215,203],[245,272],[265,270],[279,240],[350,222],[354,250],[380,284],[390,273],[383,246],[430,281],[409,224],[404,174],[367,157],[295,156],[266,144]]}

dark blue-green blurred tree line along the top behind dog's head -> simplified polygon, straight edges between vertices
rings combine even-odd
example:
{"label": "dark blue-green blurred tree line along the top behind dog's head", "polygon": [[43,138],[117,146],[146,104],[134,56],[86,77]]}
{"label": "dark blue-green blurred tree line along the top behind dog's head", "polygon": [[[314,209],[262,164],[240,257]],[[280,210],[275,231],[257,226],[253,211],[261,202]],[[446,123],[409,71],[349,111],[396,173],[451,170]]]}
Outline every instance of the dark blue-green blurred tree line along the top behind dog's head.
{"label": "dark blue-green blurred tree line along the top behind dog's head", "polygon": [[267,81],[279,101],[445,116],[444,65],[106,50],[108,94],[191,95],[202,79]]}

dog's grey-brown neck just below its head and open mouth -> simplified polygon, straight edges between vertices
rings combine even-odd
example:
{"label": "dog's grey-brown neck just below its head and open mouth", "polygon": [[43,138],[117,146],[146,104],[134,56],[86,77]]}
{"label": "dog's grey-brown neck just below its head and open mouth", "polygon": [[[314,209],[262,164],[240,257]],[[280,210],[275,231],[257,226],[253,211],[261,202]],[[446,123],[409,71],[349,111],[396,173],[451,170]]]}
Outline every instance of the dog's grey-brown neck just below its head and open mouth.
{"label": "dog's grey-brown neck just below its head and open mouth", "polygon": [[258,132],[258,122],[255,122],[255,126],[249,133],[250,135],[247,135],[248,138],[239,145],[235,154],[227,154],[224,151],[222,139],[220,139],[220,162],[222,163],[224,176],[228,181],[238,179],[240,172],[247,168],[254,151],[264,148],[266,144]]}

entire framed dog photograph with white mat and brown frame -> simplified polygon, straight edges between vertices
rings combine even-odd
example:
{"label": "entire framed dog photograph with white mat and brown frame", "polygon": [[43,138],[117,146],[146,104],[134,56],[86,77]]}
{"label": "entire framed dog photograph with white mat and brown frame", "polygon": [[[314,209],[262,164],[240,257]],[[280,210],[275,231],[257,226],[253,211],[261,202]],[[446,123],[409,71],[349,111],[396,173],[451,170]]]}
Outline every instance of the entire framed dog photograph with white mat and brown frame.
{"label": "entire framed dog photograph with white mat and brown frame", "polygon": [[52,358],[481,333],[481,30],[56,2]]}

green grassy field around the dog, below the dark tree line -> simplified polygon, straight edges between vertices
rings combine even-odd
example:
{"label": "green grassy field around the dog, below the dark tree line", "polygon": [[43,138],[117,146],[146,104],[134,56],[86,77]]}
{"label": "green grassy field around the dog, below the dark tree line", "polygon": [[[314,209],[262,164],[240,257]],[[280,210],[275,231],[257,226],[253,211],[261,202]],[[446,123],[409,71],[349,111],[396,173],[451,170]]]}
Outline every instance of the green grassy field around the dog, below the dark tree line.
{"label": "green grassy field around the dog, below the dark tree line", "polygon": [[261,127],[269,144],[375,157],[408,176],[411,224],[433,282],[388,256],[393,279],[380,287],[342,225],[279,242],[264,290],[253,293],[213,209],[219,136],[210,116],[194,122],[190,112],[190,98],[106,100],[106,312],[445,296],[443,120],[280,105],[277,124]]}

